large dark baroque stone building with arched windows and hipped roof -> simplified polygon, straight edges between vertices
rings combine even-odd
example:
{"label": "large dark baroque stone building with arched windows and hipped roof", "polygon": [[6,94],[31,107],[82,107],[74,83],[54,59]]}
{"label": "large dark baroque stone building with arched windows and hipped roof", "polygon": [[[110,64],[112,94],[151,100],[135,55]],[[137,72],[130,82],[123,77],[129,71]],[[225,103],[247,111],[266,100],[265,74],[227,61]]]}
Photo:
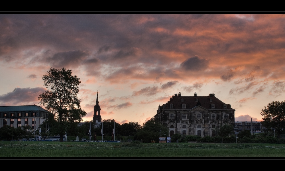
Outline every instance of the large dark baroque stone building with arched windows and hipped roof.
{"label": "large dark baroque stone building with arched windows and hipped roof", "polygon": [[235,124],[235,109],[210,93],[209,96],[182,96],[175,93],[158,106],[155,121],[169,128],[169,135],[216,136],[216,129],[224,124]]}

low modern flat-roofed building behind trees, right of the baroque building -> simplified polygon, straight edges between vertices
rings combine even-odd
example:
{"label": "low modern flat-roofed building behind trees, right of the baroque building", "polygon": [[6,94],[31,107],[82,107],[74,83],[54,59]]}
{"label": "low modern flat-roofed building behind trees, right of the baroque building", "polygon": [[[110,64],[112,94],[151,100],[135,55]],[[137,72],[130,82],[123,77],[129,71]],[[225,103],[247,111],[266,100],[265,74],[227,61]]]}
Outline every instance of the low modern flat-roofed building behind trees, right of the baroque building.
{"label": "low modern flat-roofed building behind trees, right of the baroque building", "polygon": [[[251,130],[252,127],[252,130]],[[266,128],[263,127],[260,121],[236,121],[235,122],[235,131],[240,133],[241,131],[252,131],[252,133],[263,133]]]}

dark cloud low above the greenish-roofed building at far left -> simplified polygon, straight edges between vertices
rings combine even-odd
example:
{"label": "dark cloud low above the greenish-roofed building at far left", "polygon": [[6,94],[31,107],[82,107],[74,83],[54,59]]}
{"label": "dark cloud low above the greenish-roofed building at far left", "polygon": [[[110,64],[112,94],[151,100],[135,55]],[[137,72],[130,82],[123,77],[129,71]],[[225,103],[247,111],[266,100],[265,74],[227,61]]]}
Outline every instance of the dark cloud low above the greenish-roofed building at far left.
{"label": "dark cloud low above the greenish-roofed building at far left", "polygon": [[38,104],[38,97],[46,88],[15,88],[12,92],[0,95],[0,105],[33,105]]}

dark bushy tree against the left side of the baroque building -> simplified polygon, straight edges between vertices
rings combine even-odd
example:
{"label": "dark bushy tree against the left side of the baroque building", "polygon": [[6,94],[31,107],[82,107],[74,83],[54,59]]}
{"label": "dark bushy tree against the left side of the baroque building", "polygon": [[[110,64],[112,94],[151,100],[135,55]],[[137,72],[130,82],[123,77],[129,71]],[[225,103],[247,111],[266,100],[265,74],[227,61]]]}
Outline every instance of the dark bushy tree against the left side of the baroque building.
{"label": "dark bushy tree against the left side of the baroque building", "polygon": [[168,128],[151,118],[143,124],[142,129],[136,133],[135,138],[141,139],[144,143],[149,143],[151,140],[158,142],[159,134],[161,136],[164,136],[164,134],[168,135]]}

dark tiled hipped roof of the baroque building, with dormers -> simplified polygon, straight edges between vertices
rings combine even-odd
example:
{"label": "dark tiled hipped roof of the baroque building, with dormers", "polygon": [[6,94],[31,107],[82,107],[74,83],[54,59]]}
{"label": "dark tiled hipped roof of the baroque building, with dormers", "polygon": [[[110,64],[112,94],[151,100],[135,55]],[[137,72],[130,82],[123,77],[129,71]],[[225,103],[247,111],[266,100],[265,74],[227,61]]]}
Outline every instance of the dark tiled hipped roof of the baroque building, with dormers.
{"label": "dark tiled hipped roof of the baroque building, with dormers", "polygon": [[[176,94],[175,96],[172,96],[173,98],[170,98],[170,101],[163,105],[163,109],[170,109],[170,104],[173,104],[173,109],[183,109],[182,104],[186,105],[185,109],[192,109],[193,107],[197,106],[197,101],[201,103],[200,106],[204,107],[205,109],[211,110],[211,105],[215,105],[215,110],[225,110],[224,105],[226,103],[219,100],[217,97],[215,97],[214,94],[210,94],[209,96],[181,96],[181,94]],[[181,101],[183,99],[183,101]],[[210,101],[212,99],[212,101]],[[226,104],[227,108],[226,110],[235,110],[231,108],[231,105]]]}

